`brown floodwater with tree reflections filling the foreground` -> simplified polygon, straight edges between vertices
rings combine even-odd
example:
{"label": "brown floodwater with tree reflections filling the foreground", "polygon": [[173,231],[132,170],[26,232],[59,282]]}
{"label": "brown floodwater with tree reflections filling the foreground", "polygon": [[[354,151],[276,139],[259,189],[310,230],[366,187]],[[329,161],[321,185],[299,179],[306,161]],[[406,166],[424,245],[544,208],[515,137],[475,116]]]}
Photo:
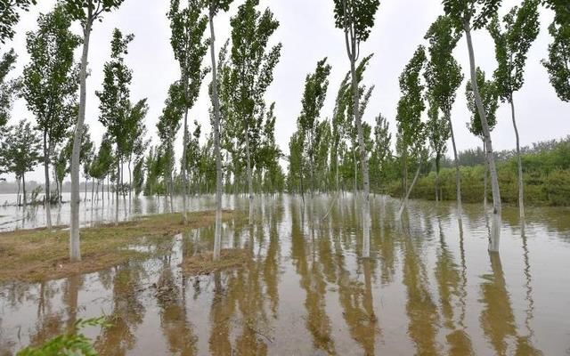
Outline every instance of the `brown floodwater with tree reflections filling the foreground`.
{"label": "brown floodwater with tree reflections filling the foreground", "polygon": [[[79,318],[102,355],[570,355],[570,209],[517,208],[487,252],[483,206],[371,203],[371,259],[350,195],[257,198],[255,222],[224,224],[245,268],[184,277],[184,258],[213,246],[213,228],[133,248],[162,256],[37,284],[0,284],[0,355],[68,330]],[[226,197],[245,208],[247,199]],[[195,199],[192,206],[210,206]]]}

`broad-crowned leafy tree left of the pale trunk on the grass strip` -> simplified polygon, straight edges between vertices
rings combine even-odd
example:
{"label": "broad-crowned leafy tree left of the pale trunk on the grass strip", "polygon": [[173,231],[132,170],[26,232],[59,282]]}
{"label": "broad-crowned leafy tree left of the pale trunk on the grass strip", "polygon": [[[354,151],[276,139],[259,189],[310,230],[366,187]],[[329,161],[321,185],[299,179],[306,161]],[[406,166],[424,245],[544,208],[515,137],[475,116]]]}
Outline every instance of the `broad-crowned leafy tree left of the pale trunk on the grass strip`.
{"label": "broad-crowned leafy tree left of the pale trunk on the grass strip", "polygon": [[21,96],[43,135],[46,223],[51,230],[49,158],[77,115],[78,68],[73,52],[81,38],[69,31],[71,18],[62,6],[40,15],[37,22],[37,31],[27,35],[30,63],[24,69]]}

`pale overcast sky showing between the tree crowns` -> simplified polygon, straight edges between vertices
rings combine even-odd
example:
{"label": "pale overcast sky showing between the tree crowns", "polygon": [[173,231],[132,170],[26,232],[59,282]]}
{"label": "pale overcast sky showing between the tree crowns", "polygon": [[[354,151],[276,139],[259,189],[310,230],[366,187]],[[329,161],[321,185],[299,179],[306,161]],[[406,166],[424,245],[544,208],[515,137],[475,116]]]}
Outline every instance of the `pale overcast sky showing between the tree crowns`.
{"label": "pale overcast sky showing between the tree crowns", "polygon": [[[37,28],[40,12],[49,12],[54,0],[42,0],[30,12],[23,13],[16,36],[11,43],[3,46],[2,52],[10,47],[19,54],[14,75],[20,75],[28,61],[25,38],[26,32]],[[230,16],[236,12],[241,0],[235,0],[229,13],[216,17],[216,49],[224,44],[230,35]],[[518,4],[516,0],[503,1],[501,13]],[[102,69],[110,57],[110,36],[113,28],[124,33],[133,33],[134,41],[129,46],[127,65],[133,69],[131,99],[138,101],[148,98],[151,107],[146,120],[153,143],[157,143],[156,123],[167,96],[167,89],[179,76],[179,69],[170,47],[170,28],[166,12],[167,0],[126,0],[116,12],[106,14],[102,23],[95,23],[91,36],[89,69],[87,78],[87,109],[85,122],[90,125],[92,137],[97,145],[104,129],[98,122],[99,100],[94,92],[102,87]],[[275,69],[273,85],[266,95],[268,102],[276,102],[276,138],[284,152],[289,151],[289,137],[295,131],[300,112],[301,95],[305,76],[312,72],[316,62],[329,58],[332,66],[330,87],[322,118],[331,117],[334,100],[340,81],[349,69],[346,57],[344,36],[334,27],[332,0],[261,0],[260,10],[270,6],[275,18],[281,22],[273,35],[273,44],[281,42],[281,61]],[[419,44],[425,44],[423,36],[429,25],[443,12],[441,0],[384,0],[376,16],[376,26],[369,40],[361,46],[361,57],[374,53],[369,69],[365,74],[367,85],[376,85],[369,107],[363,119],[369,123],[381,112],[388,118],[390,129],[395,136],[396,104],[399,99],[398,77],[403,67]],[[558,100],[550,86],[546,70],[540,61],[547,56],[550,36],[547,28],[552,13],[542,9],[541,33],[528,54],[525,70],[525,86],[516,93],[517,124],[521,144],[549,140],[566,136],[570,129],[570,105]],[[74,30],[79,33],[79,28]],[[491,75],[496,67],[493,40],[486,31],[474,35],[476,63]],[[77,60],[79,58],[77,50]],[[465,38],[456,48],[455,57],[468,77],[468,52]],[[208,56],[209,59],[209,56]],[[209,65],[209,61],[205,63]],[[210,77],[206,79],[208,82]],[[465,83],[461,85],[458,99],[452,111],[452,120],[460,150],[480,146],[476,137],[469,134],[466,123],[469,113],[465,101]],[[208,93],[202,85],[199,101],[191,110],[190,122],[197,119],[209,131]],[[18,100],[12,109],[14,123],[21,118],[33,119],[26,109],[26,103]],[[498,111],[498,125],[493,131],[495,150],[514,148],[515,136],[510,120],[510,111],[501,105]],[[182,131],[179,136],[182,135]],[[177,147],[182,151],[179,137]],[[7,178],[13,179],[8,175]],[[28,174],[29,180],[43,182],[42,169]],[[69,177],[66,178],[68,180]]]}

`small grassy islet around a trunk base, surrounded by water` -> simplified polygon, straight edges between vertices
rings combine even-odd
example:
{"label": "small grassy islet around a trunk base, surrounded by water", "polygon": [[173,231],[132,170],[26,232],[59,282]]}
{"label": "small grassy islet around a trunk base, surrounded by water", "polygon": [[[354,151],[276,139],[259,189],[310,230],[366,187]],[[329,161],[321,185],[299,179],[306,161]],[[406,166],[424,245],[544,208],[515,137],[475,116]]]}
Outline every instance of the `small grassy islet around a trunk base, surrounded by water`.
{"label": "small grassy islet around a trunk base, surrounded by water", "polygon": [[186,275],[209,274],[215,271],[243,267],[251,259],[251,254],[243,249],[228,248],[220,253],[220,259],[214,261],[211,251],[194,255],[182,263],[182,271]]}

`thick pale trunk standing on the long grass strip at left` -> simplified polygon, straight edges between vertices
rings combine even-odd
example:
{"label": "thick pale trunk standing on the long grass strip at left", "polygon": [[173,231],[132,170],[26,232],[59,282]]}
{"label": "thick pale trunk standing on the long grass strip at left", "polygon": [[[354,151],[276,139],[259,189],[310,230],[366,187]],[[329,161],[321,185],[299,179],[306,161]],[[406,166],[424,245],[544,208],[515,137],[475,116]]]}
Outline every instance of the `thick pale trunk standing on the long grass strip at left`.
{"label": "thick pale trunk standing on the long grass strip at left", "polygon": [[85,105],[87,93],[87,57],[89,54],[89,39],[93,9],[88,7],[87,19],[85,20],[83,53],[81,54],[81,70],[79,72],[79,115],[73,135],[73,151],[71,153],[71,219],[69,226],[69,258],[71,261],[81,261],[81,249],[79,242],[79,158],[81,153],[81,136],[85,121]]}

